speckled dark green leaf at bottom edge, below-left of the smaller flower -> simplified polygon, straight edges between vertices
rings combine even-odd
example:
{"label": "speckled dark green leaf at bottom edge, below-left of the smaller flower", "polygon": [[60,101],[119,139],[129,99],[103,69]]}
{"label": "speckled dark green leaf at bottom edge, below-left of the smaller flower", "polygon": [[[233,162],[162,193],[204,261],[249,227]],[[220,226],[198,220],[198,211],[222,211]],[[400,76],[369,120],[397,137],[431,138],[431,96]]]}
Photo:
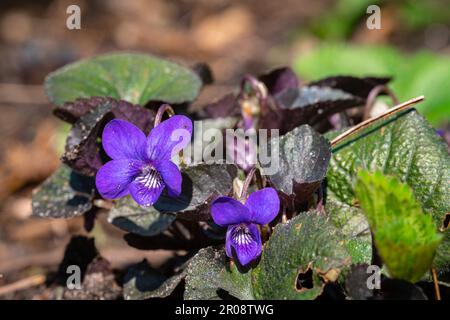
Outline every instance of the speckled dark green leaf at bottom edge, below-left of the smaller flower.
{"label": "speckled dark green leaf at bottom edge, below-left of the smaller flower", "polygon": [[223,249],[201,249],[187,268],[184,298],[218,300],[222,299],[220,292],[226,291],[238,299],[254,299],[250,275],[240,273],[234,265],[229,267]]}

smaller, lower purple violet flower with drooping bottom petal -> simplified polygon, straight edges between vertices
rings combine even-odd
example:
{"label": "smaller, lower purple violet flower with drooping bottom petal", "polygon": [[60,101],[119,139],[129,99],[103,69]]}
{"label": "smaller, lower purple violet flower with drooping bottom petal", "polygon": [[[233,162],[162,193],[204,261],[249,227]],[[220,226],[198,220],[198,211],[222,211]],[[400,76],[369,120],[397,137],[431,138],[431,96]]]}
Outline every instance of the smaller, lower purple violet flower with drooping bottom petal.
{"label": "smaller, lower purple violet flower with drooping bottom petal", "polygon": [[262,243],[259,225],[271,222],[280,210],[280,199],[273,188],[253,192],[245,204],[220,197],[211,205],[211,215],[216,224],[228,227],[225,251],[232,258],[232,248],[241,265],[248,265],[261,255]]}

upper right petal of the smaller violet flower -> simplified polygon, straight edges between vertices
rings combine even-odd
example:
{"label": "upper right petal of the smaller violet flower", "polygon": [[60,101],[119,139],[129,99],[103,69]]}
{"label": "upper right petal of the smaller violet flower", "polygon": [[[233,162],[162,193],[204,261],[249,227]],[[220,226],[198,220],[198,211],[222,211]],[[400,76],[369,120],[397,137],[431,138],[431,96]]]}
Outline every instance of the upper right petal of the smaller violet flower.
{"label": "upper right petal of the smaller violet flower", "polygon": [[280,211],[280,198],[274,188],[264,188],[250,194],[245,206],[251,212],[249,221],[257,224],[268,224]]}

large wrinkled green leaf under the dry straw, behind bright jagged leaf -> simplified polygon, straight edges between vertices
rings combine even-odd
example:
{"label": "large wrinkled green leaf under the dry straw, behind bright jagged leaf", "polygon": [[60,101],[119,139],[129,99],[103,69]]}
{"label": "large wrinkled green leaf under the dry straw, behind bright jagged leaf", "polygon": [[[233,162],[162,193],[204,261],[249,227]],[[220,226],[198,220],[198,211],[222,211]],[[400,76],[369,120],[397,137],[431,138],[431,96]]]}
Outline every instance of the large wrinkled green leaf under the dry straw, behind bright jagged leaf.
{"label": "large wrinkled green leaf under the dry straw, behind bright jagged leaf", "polygon": [[[450,156],[442,138],[415,110],[377,121],[336,146],[327,174],[328,200],[355,206],[360,170],[378,170],[408,184],[423,210],[443,228],[450,212]],[[444,237],[434,263],[448,272],[450,233]]]}

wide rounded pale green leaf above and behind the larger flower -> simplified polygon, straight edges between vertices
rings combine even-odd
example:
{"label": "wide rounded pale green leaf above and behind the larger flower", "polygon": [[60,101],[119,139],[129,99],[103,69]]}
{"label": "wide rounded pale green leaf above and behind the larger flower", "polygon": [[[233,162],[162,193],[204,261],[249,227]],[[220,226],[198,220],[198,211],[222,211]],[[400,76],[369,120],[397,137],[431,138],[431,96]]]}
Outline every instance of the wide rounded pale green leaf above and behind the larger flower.
{"label": "wide rounded pale green leaf above and behind the larger flower", "polygon": [[138,53],[114,53],[71,63],[45,80],[56,105],[77,98],[107,96],[144,105],[150,100],[181,103],[194,100],[201,80],[170,61]]}

